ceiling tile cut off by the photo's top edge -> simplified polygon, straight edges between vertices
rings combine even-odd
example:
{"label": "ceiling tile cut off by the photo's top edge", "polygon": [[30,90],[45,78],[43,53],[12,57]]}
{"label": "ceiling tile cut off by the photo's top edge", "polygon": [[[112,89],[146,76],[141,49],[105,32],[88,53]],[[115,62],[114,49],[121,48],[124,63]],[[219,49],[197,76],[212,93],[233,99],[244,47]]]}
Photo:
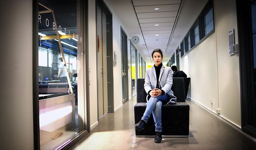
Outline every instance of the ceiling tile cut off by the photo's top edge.
{"label": "ceiling tile cut off by the photo's top edge", "polygon": [[134,6],[180,4],[181,0],[133,0]]}

